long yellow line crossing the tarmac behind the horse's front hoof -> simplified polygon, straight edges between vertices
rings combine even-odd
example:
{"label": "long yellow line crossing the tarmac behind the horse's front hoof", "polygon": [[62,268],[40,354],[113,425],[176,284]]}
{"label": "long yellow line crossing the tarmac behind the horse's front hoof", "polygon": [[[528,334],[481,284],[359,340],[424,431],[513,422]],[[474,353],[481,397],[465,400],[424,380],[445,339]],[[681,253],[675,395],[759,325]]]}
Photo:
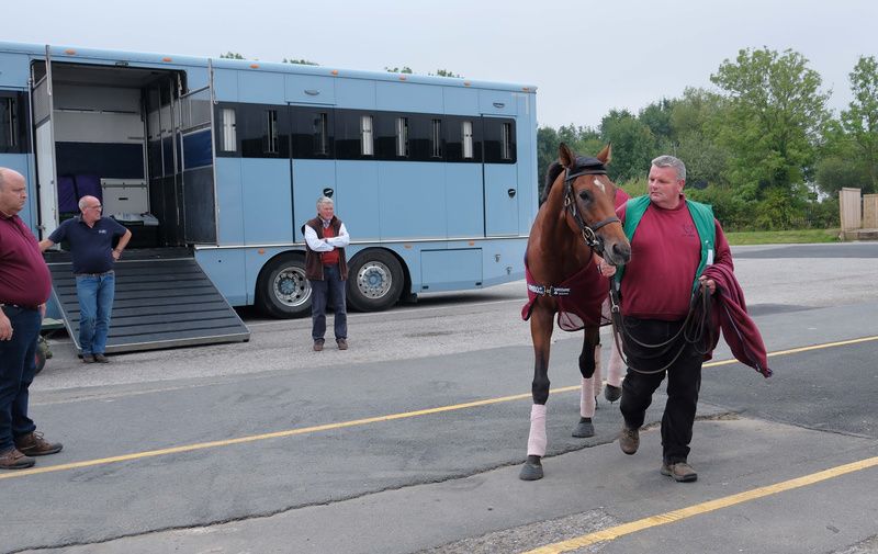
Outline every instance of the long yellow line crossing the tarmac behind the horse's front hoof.
{"label": "long yellow line crossing the tarmac behind the horse's front hoof", "polygon": [[[777,357],[777,355],[787,355],[787,354],[793,354],[793,353],[799,353],[799,352],[807,352],[809,350],[819,350],[819,349],[823,349],[823,348],[833,348],[833,347],[856,344],[856,343],[859,343],[859,342],[868,342],[868,341],[873,341],[873,340],[878,340],[878,336],[864,337],[864,338],[852,339],[852,340],[843,340],[843,341],[837,341],[837,342],[828,342],[828,343],[824,343],[824,344],[814,344],[814,346],[810,346],[810,347],[795,348],[795,349],[790,349],[790,350],[781,350],[779,352],[769,353],[768,357],[772,358],[772,357]],[[727,364],[732,364],[732,363],[739,363],[739,362],[738,362],[738,360],[734,360],[734,359],[732,359],[732,360],[722,360],[722,361],[718,361],[718,362],[706,363],[703,366],[705,368],[713,368],[713,366],[718,366],[718,365],[727,365]],[[564,387],[559,387],[559,388],[552,388],[549,392],[550,392],[550,394],[560,394],[560,393],[570,393],[570,392],[578,391],[578,389],[579,389],[579,385],[573,385],[573,386],[564,386]],[[14,478],[14,477],[26,477],[29,475],[38,475],[41,473],[53,473],[53,472],[61,472],[61,471],[67,471],[67,470],[79,470],[79,468],[82,468],[82,467],[92,467],[92,466],[95,466],[95,465],[114,464],[114,463],[120,463],[120,462],[130,462],[132,460],[142,460],[142,459],[146,459],[146,457],[162,456],[162,455],[167,455],[167,454],[179,454],[179,453],[182,453],[182,452],[192,452],[192,451],[195,451],[195,450],[206,450],[206,449],[215,449],[215,448],[219,448],[219,446],[229,446],[229,445],[233,445],[233,444],[244,444],[244,443],[247,443],[247,442],[256,442],[256,441],[262,441],[262,440],[268,440],[268,439],[280,439],[280,438],[284,438],[284,437],[295,437],[297,434],[308,434],[308,433],[315,433],[315,432],[319,432],[319,431],[331,431],[331,430],[335,430],[335,429],[344,429],[346,427],[358,427],[358,426],[364,426],[364,425],[369,425],[369,423],[379,423],[379,422],[382,422],[382,421],[393,421],[393,420],[396,420],[396,419],[407,419],[407,418],[419,417],[419,416],[429,416],[429,415],[432,415],[432,414],[441,414],[443,411],[454,411],[454,410],[466,409],[466,408],[477,408],[477,407],[481,407],[481,406],[489,406],[492,404],[500,404],[500,403],[513,402],[513,400],[522,400],[525,398],[530,398],[530,397],[531,397],[530,393],[516,394],[516,395],[511,395],[511,396],[502,396],[502,397],[498,397],[498,398],[486,398],[486,399],[483,399],[483,400],[474,400],[474,402],[469,402],[469,403],[463,403],[463,404],[454,404],[454,405],[451,405],[451,406],[439,406],[437,408],[427,408],[427,409],[415,410],[415,411],[405,411],[405,412],[401,412],[401,414],[390,414],[390,415],[386,415],[386,416],[376,416],[376,417],[364,418],[364,419],[353,419],[353,420],[350,420],[350,421],[340,421],[340,422],[336,422],[336,423],[325,423],[325,425],[319,425],[319,426],[302,427],[302,428],[299,428],[299,429],[288,429],[285,431],[275,431],[275,432],[272,432],[272,433],[251,434],[251,436],[248,436],[248,437],[239,437],[237,439],[226,439],[226,440],[211,441],[211,442],[199,442],[199,443],[195,443],[195,444],[185,444],[185,445],[182,445],[182,446],[172,446],[172,448],[169,448],[169,449],[147,450],[145,452],[135,452],[135,453],[132,453],[132,454],[123,454],[121,456],[101,457],[101,459],[97,459],[97,460],[86,460],[86,461],[82,461],[82,462],[72,462],[72,463],[69,463],[69,464],[48,465],[48,466],[45,466],[45,467],[34,467],[32,470],[19,470],[19,471],[14,471],[14,472],[10,472],[10,473],[5,473],[4,472],[4,473],[0,474],[0,480],[2,480],[2,479],[11,479],[11,478]]]}

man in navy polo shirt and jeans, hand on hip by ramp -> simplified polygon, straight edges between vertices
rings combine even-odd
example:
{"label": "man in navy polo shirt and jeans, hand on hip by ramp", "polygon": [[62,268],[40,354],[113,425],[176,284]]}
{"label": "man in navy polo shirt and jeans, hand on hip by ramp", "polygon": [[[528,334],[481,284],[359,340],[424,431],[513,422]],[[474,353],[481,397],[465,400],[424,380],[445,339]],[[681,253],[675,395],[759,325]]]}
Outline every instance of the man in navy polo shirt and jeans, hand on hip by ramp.
{"label": "man in navy polo shirt and jeans, hand on hip by ramp", "polygon": [[[131,231],[110,217],[101,217],[101,201],[94,196],[79,200],[81,214],[61,223],[40,242],[45,251],[57,242],[70,242],[79,298],[79,348],[85,363],[106,363],[106,335],[113,312],[115,274],[113,265],[131,240]],[[119,239],[115,249],[113,239]]]}

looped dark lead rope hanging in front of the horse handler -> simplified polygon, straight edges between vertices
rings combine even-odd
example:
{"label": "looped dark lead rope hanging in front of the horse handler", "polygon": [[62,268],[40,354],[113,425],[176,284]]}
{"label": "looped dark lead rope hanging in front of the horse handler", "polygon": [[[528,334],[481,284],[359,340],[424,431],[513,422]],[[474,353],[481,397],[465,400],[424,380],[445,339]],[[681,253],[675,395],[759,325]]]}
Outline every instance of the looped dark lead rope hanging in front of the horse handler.
{"label": "looped dark lead rope hanging in front of the horse handler", "polygon": [[[710,295],[705,294],[705,290],[707,285],[700,283],[699,286],[693,292],[691,301],[689,302],[689,312],[686,314],[686,319],[683,321],[679,330],[674,333],[673,337],[667,339],[664,342],[658,342],[655,344],[649,344],[645,342],[641,342],[634,337],[629,333],[624,328],[624,321],[622,318],[622,312],[619,307],[619,291],[616,290],[616,281],[610,279],[610,320],[612,321],[612,339],[616,343],[616,350],[619,352],[619,357],[622,359],[622,362],[633,372],[640,373],[642,375],[654,375],[656,373],[662,373],[666,371],[668,368],[674,365],[674,363],[679,359],[683,351],[686,349],[686,344],[696,344],[696,352],[703,355],[710,350],[710,346],[713,344],[713,329],[710,326]],[[699,342],[705,342],[705,332],[707,331],[707,336],[709,341],[706,342],[703,348],[699,347]],[[658,358],[666,354],[674,343],[683,336],[683,343],[677,350],[677,353],[674,355],[674,359],[671,360],[665,366],[653,370],[653,371],[645,371],[645,370],[638,370],[637,368],[631,365],[631,362],[626,358],[622,342],[624,340],[630,340],[637,343],[640,347],[651,349],[651,350],[658,350],[661,351],[654,353],[653,355],[649,357],[650,359]]]}

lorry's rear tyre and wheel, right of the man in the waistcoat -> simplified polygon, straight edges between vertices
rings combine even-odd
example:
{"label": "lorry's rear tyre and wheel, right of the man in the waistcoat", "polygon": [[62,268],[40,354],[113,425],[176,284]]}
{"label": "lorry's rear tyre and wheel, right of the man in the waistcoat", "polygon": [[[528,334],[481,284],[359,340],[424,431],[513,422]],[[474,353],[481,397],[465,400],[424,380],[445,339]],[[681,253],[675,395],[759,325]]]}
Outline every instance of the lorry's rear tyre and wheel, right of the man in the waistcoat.
{"label": "lorry's rear tyre and wheel, right of the man in the waistcoat", "polygon": [[404,284],[403,268],[391,252],[370,248],[348,264],[348,305],[358,312],[381,312],[396,304]]}

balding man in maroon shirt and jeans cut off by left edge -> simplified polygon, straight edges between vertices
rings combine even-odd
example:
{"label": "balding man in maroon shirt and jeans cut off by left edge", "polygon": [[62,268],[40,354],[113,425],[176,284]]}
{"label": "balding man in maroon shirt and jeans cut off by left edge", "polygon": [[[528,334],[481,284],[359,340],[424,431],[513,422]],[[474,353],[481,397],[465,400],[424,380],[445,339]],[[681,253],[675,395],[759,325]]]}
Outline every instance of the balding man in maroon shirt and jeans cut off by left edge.
{"label": "balding man in maroon shirt and jeans cut off by left edge", "polygon": [[18,216],[26,200],[24,177],[0,168],[0,470],[31,467],[31,456],[61,450],[43,439],[27,417],[52,278],[36,238]]}

